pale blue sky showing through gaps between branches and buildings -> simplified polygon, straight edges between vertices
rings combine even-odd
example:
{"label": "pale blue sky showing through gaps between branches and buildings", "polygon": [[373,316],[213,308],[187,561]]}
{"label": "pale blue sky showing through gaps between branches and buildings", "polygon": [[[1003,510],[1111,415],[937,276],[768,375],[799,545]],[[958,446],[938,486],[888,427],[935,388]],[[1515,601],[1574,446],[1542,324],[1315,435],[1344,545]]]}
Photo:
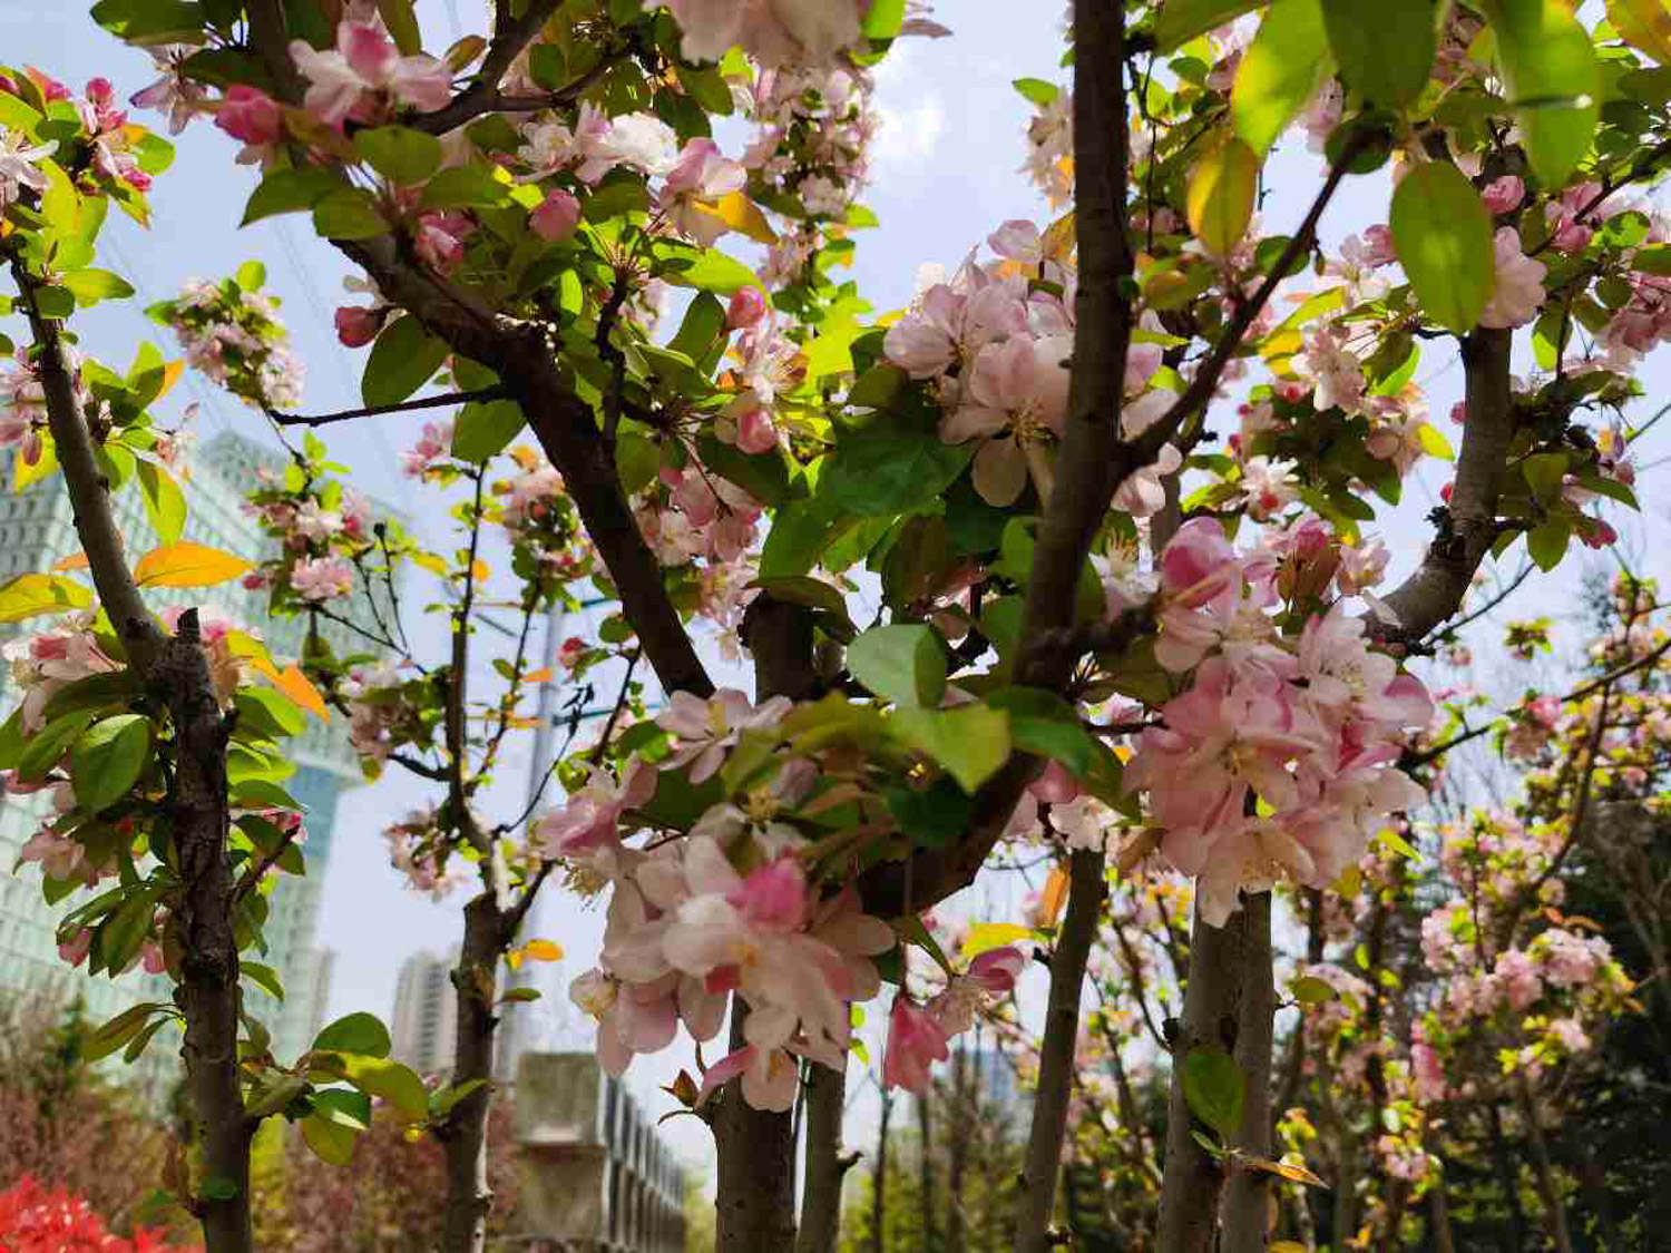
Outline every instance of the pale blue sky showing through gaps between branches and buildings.
{"label": "pale blue sky showing through gaps between branches and buildings", "polygon": [[[82,0],[0,0],[0,50],[13,63],[32,63],[65,79],[77,89],[94,77],[109,77],[119,95],[130,95],[155,75],[149,58],[122,47],[99,30],[85,15]],[[1023,18],[1023,12],[1036,18]],[[877,105],[884,129],[874,149],[874,185],[862,197],[881,219],[881,229],[859,239],[852,269],[859,289],[886,312],[904,306],[914,291],[917,269],[924,262],[956,267],[962,256],[1006,219],[1048,221],[1048,207],[1021,177],[1023,132],[1031,107],[1013,90],[1018,77],[1061,80],[1059,5],[1013,5],[981,0],[939,0],[936,17],[952,28],[944,40],[902,40],[877,70]],[[460,33],[485,28],[476,0],[419,0],[419,20],[426,47],[444,48]],[[162,119],[150,115],[150,125]],[[269,291],[284,301],[282,317],[291,327],[294,347],[307,366],[306,403],[309,411],[349,408],[359,403],[359,371],[364,353],[351,353],[336,342],[331,312],[348,302],[343,279],[351,272],[344,259],[314,237],[301,217],[267,219],[249,229],[234,229],[256,175],[232,164],[234,145],[206,122],[192,125],[177,140],[179,160],[160,177],[152,192],[154,224],[140,231],[125,217],[112,214],[105,229],[102,264],[115,269],[139,289],[139,299],[105,304],[77,316],[84,344],[95,356],[125,364],[140,337],[165,334],[145,322],[140,309],[172,296],[189,277],[221,277],[242,261],[256,257],[266,264]],[[1262,205],[1270,231],[1292,231],[1303,216],[1307,199],[1317,185],[1317,157],[1305,150],[1303,135],[1290,135],[1267,175]],[[1325,244],[1338,242],[1348,231],[1385,221],[1389,187],[1384,175],[1348,180],[1322,224]],[[172,344],[160,342],[165,351]],[[1444,419],[1460,391],[1460,369],[1454,347],[1435,344],[1417,376],[1430,389],[1432,413],[1447,433]],[[1668,369],[1664,354],[1651,361],[1644,378],[1649,393],[1666,396]],[[217,393],[207,381],[187,374],[175,393],[184,401],[201,404],[199,431],[211,438],[234,429],[256,439],[271,439],[266,424],[237,399]],[[1644,401],[1643,413],[1651,413]],[[164,414],[164,421],[174,414]],[[424,414],[389,416],[329,428],[329,448],[336,459],[351,468],[354,481],[371,495],[389,501],[413,518],[414,528],[433,546],[444,543],[436,526],[441,513],[409,479],[398,473],[396,451],[409,446]],[[1228,429],[1228,418],[1222,426]],[[1671,441],[1656,434],[1644,441],[1639,463],[1651,463],[1671,453]],[[1663,471],[1659,471],[1663,473]],[[1437,500],[1437,484],[1447,478],[1442,466],[1429,464],[1420,481],[1407,493],[1405,506],[1382,525],[1395,550],[1397,576],[1419,558],[1427,540],[1422,515]],[[1609,518],[1624,533],[1624,551],[1643,560],[1648,573],[1664,573],[1668,525],[1664,510],[1653,503],[1658,474],[1648,474],[1639,493],[1648,518],[1631,523],[1614,510]],[[1512,575],[1521,556],[1506,558]],[[1582,568],[1594,568],[1604,558],[1569,563],[1557,578],[1539,585],[1536,603],[1511,605],[1509,611],[1571,613]],[[563,633],[583,633],[585,623],[570,621]],[[431,635],[431,645],[439,638]],[[423,647],[423,645],[419,645]],[[709,650],[709,660],[717,657]],[[1482,668],[1489,657],[1482,657]],[[747,688],[747,678],[735,668],[724,670],[722,682]],[[1486,682],[1486,677],[1481,677]],[[600,688],[602,700],[612,692]],[[515,814],[523,795],[526,748],[511,760],[505,782],[488,805],[500,804]],[[338,952],[333,986],[333,1012],[369,1009],[388,1014],[393,1007],[396,971],[418,949],[446,951],[460,936],[463,897],[433,904],[406,890],[389,869],[384,825],[428,797],[413,787],[399,770],[374,785],[344,797],[321,911],[319,942]],[[976,889],[976,895],[981,889]],[[968,894],[966,894],[968,895]],[[974,900],[973,909],[991,909],[991,897]],[[570,957],[556,969],[541,972],[546,996],[531,1007],[536,1034],[553,1044],[582,1048],[590,1032],[566,1007],[568,977],[585,969],[597,952],[602,934],[598,909],[582,909],[573,899],[548,894],[538,934],[556,939]],[[871,1037],[872,1058],[881,1053],[876,1026],[886,1014],[871,1014],[864,1034]],[[712,1058],[710,1058],[712,1061]],[[650,1109],[660,1113],[667,1098],[652,1096],[658,1083],[667,1083],[680,1064],[688,1064],[685,1046],[675,1046],[655,1059],[642,1059],[632,1074],[640,1094],[652,1098]],[[709,1138],[693,1119],[675,1119],[667,1133],[675,1146],[700,1159],[707,1156]]]}

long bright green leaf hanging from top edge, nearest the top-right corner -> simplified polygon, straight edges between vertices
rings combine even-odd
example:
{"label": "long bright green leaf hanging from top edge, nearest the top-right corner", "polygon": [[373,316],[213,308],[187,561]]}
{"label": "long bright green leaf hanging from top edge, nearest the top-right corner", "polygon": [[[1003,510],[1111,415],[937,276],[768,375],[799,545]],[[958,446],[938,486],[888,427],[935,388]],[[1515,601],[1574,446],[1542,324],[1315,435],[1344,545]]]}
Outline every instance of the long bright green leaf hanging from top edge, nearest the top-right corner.
{"label": "long bright green leaf hanging from top edge, nearest the top-right corner", "polygon": [[[1601,119],[1601,63],[1567,0],[1484,0],[1532,172],[1559,187]],[[1402,254],[1400,254],[1402,256]]]}

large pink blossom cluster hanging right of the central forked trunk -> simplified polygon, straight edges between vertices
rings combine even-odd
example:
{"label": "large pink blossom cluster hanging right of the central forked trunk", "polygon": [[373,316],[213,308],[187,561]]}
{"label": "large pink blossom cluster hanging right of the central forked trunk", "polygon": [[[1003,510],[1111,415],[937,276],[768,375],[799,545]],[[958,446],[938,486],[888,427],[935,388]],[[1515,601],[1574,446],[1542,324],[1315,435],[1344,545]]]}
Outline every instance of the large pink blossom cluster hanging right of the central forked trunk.
{"label": "large pink blossom cluster hanging right of the central forked trunk", "polygon": [[1138,738],[1128,782],[1222,926],[1243,887],[1333,882],[1389,814],[1425,799],[1397,758],[1432,702],[1342,601],[1282,635],[1270,551],[1238,553],[1216,520],[1185,523],[1160,576],[1155,658],[1190,685]]}

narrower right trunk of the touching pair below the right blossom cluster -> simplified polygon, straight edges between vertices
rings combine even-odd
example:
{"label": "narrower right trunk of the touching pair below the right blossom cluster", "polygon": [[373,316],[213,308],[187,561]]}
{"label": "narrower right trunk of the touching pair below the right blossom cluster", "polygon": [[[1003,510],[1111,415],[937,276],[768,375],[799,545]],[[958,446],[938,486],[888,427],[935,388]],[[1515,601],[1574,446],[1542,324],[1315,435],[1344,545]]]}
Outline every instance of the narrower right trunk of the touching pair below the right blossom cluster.
{"label": "narrower right trunk of the touching pair below the right blossom cluster", "polygon": [[[1270,892],[1242,902],[1247,944],[1242,951],[1242,1017],[1237,1069],[1247,1079],[1237,1146],[1268,1158],[1272,1144],[1270,1059],[1277,1019],[1277,984],[1270,954]],[[1225,1193],[1223,1253],[1263,1253],[1270,1235],[1270,1174],[1235,1171]]]}

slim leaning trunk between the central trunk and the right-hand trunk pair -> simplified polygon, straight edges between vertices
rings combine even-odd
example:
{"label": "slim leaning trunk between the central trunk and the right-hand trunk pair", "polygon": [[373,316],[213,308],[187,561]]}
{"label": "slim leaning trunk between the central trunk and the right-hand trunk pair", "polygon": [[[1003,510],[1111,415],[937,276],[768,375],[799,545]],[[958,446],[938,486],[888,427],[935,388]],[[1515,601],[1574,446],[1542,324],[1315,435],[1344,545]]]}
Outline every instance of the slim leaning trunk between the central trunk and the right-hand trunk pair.
{"label": "slim leaning trunk between the central trunk and the right-hand trunk pair", "polygon": [[1068,1099],[1073,1094],[1074,1048],[1079,1042],[1079,994],[1106,894],[1103,854],[1088,849],[1074,852],[1069,859],[1068,916],[1049,962],[1039,1083],[1033,1098],[1033,1129],[1016,1206],[1016,1253],[1046,1253],[1049,1248],[1049,1216],[1056,1203],[1061,1143],[1068,1128]]}

